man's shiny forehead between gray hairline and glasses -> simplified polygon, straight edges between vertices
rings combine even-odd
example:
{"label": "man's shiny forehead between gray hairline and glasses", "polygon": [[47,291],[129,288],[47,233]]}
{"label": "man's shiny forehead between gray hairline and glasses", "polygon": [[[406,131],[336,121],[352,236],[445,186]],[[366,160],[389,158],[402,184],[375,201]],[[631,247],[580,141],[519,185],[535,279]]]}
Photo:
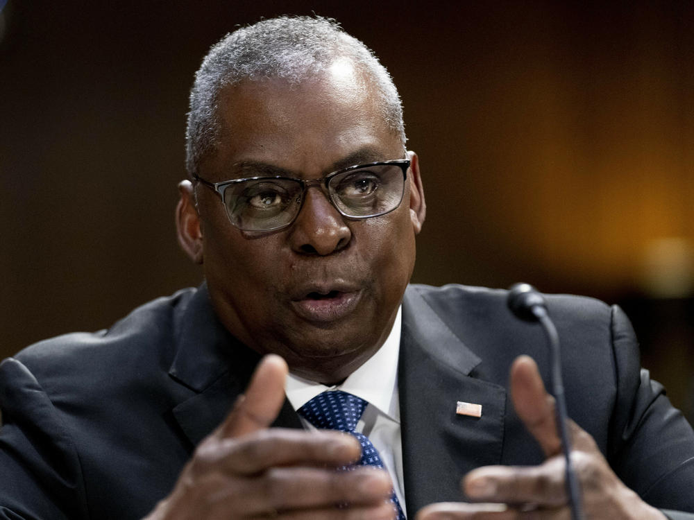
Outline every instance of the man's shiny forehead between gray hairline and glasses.
{"label": "man's shiny forehead between gray hairline and glasses", "polygon": [[224,177],[243,162],[272,164],[314,176],[343,164],[397,159],[403,144],[390,130],[378,91],[339,60],[301,83],[265,78],[226,87],[220,96],[217,150],[206,162]]}

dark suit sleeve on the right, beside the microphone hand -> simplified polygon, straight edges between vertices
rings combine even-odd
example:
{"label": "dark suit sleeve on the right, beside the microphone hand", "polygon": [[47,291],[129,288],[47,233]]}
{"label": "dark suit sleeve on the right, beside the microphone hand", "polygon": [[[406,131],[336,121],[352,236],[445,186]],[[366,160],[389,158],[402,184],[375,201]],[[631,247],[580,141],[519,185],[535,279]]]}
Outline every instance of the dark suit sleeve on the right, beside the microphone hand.
{"label": "dark suit sleeve on the right, beside the microphone hand", "polygon": [[625,313],[612,308],[617,404],[609,462],[624,483],[671,520],[694,520],[694,432],[660,383],[640,367]]}

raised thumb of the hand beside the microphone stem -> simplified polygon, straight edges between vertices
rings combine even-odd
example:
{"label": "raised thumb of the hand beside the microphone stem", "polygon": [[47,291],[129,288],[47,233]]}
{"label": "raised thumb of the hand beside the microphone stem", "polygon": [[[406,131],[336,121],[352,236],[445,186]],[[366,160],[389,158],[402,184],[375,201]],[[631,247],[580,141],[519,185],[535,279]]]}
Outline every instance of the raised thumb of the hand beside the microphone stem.
{"label": "raised thumb of the hand beside the microphone stem", "polygon": [[545,456],[561,453],[557,433],[555,398],[547,393],[539,370],[530,356],[518,356],[511,365],[511,399],[518,417],[539,442]]}

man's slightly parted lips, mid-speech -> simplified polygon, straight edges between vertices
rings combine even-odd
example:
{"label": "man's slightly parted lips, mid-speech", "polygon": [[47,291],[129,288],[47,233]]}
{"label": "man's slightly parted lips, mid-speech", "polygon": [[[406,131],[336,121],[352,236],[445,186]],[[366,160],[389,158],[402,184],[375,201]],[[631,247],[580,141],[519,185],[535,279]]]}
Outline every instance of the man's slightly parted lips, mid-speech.
{"label": "man's slightly parted lips, mid-speech", "polygon": [[327,323],[345,318],[361,299],[362,291],[356,288],[314,288],[292,298],[291,306],[307,321]]}

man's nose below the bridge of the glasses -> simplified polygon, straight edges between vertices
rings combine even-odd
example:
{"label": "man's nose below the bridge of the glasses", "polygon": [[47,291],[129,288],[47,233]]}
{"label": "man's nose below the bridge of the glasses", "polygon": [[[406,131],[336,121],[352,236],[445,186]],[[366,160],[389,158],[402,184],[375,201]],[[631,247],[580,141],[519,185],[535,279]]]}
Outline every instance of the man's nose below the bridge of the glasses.
{"label": "man's nose below the bridge of the glasses", "polygon": [[291,248],[325,256],[344,249],[352,232],[320,187],[306,190],[303,206],[289,229]]}

